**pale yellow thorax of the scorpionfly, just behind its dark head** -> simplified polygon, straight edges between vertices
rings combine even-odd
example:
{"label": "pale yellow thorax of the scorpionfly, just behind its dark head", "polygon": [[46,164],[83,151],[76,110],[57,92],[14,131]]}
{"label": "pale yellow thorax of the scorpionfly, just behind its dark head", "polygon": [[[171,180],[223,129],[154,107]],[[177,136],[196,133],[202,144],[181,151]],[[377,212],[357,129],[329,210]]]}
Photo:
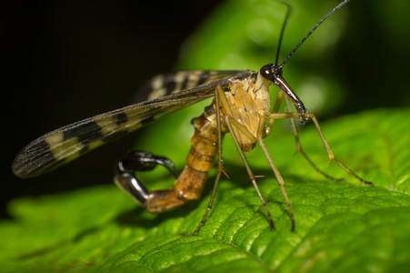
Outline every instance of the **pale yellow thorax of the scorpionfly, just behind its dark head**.
{"label": "pale yellow thorax of the scorpionfly, just behind its dark head", "polygon": [[[224,116],[229,115],[245,126],[241,129],[234,125],[231,134],[235,134],[245,152],[250,151],[255,147],[256,139],[266,135],[265,113],[269,112],[270,107],[269,82],[257,74],[248,79],[235,80],[228,88],[229,91],[225,91],[227,106],[221,107],[222,123],[225,124]],[[245,131],[254,137],[246,136]]]}

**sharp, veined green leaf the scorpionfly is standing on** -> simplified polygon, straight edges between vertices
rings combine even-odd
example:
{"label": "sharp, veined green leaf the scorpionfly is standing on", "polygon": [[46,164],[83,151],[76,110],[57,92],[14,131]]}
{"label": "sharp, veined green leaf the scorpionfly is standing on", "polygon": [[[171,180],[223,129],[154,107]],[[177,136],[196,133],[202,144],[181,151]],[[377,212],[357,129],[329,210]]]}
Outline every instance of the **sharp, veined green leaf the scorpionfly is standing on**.
{"label": "sharp, veined green leaf the scorpionfly is standing on", "polygon": [[249,159],[255,173],[265,175],[258,184],[275,231],[244,179],[245,168],[228,164],[230,179],[223,178],[215,206],[194,238],[181,234],[193,232],[201,220],[212,175],[201,200],[159,215],[136,207],[115,186],[17,199],[9,207],[15,219],[0,224],[2,271],[400,271],[410,263],[410,140],[404,137],[408,121],[395,121],[409,114],[376,110],[322,126],[335,155],[375,187],[364,187],[335,164],[325,168],[325,150],[313,126],[301,132],[306,153],[324,159],[318,165],[348,183],[329,182],[302,157],[293,157],[291,133],[266,138],[295,210],[295,233],[275,178],[255,153]]}

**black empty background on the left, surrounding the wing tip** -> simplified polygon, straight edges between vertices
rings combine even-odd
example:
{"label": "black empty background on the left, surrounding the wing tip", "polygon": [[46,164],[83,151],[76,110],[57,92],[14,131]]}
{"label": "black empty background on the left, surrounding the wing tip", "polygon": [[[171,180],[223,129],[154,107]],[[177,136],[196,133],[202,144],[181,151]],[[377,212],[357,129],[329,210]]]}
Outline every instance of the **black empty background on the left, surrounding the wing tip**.
{"label": "black empty background on the left, surrounding the wing tip", "polygon": [[173,69],[179,46],[218,1],[7,2],[0,6],[2,217],[13,197],[112,183],[114,163],[135,136],[42,177],[18,179],[11,164],[36,137],[130,104],[141,83]]}

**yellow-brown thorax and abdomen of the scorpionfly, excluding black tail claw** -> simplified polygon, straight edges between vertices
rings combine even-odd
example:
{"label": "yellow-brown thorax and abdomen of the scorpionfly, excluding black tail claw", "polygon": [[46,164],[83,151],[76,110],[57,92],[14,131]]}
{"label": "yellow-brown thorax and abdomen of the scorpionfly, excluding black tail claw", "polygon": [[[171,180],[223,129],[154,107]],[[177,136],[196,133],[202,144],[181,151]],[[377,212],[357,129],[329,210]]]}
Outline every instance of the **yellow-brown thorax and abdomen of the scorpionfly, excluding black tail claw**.
{"label": "yellow-brown thorax and abdomen of the scorpionfly, excluding black tail claw", "polygon": [[[215,88],[219,109],[214,99],[210,106],[205,107],[204,114],[193,119],[195,134],[191,139],[192,146],[186,158],[186,166],[175,180],[174,188],[152,190],[149,193],[146,200],[146,209],[149,212],[162,212],[201,197],[207,173],[215,165],[218,130],[221,131],[221,139],[229,131],[226,117],[232,117],[245,126],[247,134],[236,127],[231,132],[243,151],[252,150],[256,139],[265,137],[265,113],[270,106],[269,83],[264,82],[258,74],[257,77],[233,81],[227,89],[223,90],[221,86]],[[219,115],[217,110],[220,111]],[[219,122],[217,116],[220,116]]]}

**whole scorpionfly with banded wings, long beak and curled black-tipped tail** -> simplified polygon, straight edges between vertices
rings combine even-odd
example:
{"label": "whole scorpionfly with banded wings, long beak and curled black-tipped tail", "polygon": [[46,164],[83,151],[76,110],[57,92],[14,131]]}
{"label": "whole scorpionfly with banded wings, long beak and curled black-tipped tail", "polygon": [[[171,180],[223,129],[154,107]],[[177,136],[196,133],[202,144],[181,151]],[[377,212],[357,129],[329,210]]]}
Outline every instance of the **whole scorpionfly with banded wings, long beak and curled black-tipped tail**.
{"label": "whole scorpionfly with banded wings, long beak and curled black-tipped tail", "polygon": [[[280,35],[275,64],[262,66],[258,72],[249,70],[195,70],[156,76],[150,83],[148,100],[86,118],[35,139],[15,157],[12,167],[15,175],[17,177],[40,175],[82,156],[95,147],[102,146],[118,136],[135,131],[155,119],[214,96],[213,102],[210,106],[205,107],[204,113],[192,120],[192,124],[195,126],[195,135],[191,140],[192,146],[186,159],[186,166],[179,176],[172,161],[166,157],[157,157],[147,152],[134,151],[118,163],[115,184],[124,189],[128,195],[149,212],[162,212],[172,207],[181,206],[187,201],[201,196],[207,173],[214,167],[217,155],[217,174],[212,196],[202,221],[196,227],[194,233],[191,234],[195,235],[204,226],[205,219],[213,206],[216,188],[221,175],[224,173],[222,140],[226,133],[230,133],[245,163],[249,179],[265,208],[270,228],[275,229],[274,221],[266,206],[265,199],[257,187],[255,175],[245,158],[245,152],[252,150],[256,143],[262,148],[282,190],[292,222],[291,230],[295,231],[294,212],[285,191],[284,179],[275,167],[263,141],[263,138],[270,134],[276,119],[289,118],[291,120],[298,152],[315,167],[315,164],[305,155],[300,146],[294,121],[294,118],[298,118],[302,123],[305,123],[311,118],[326,148],[328,157],[356,179],[366,185],[373,186],[371,182],[358,177],[335,158],[315,115],[307,111],[303,102],[283,77],[285,63],[295,54],[299,46],[328,16],[347,2],[349,0],[343,1],[325,15],[295,46],[295,49],[281,65],[278,65],[278,53],[285,24]],[[285,22],[288,16],[289,10],[285,16]],[[274,106],[271,106],[269,86],[279,87]],[[288,111],[280,113],[278,110],[283,100],[285,100]],[[295,106],[295,112],[290,111],[289,100]],[[175,176],[176,180],[173,188],[150,191],[145,187],[144,182],[135,175],[137,171],[151,170],[157,166],[166,167]],[[317,167],[315,169],[325,177],[335,179],[326,175]]]}

